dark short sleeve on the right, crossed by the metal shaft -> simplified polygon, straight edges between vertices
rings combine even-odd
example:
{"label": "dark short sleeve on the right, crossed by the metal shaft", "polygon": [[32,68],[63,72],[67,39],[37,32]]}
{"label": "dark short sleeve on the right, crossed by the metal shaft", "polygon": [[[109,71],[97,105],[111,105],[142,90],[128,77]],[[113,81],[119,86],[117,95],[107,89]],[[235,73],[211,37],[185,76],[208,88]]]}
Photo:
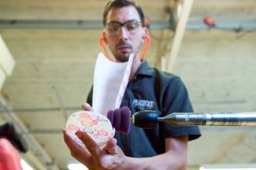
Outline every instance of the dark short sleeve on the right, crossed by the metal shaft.
{"label": "dark short sleeve on the right, crossed by the metal shaft", "polygon": [[[177,76],[170,80],[167,90],[163,96],[163,113],[161,116],[174,112],[192,112],[192,104],[189,100],[188,91],[182,80]],[[180,126],[161,122],[161,131],[164,131],[164,138],[189,136],[189,141],[201,136],[198,126]]]}

